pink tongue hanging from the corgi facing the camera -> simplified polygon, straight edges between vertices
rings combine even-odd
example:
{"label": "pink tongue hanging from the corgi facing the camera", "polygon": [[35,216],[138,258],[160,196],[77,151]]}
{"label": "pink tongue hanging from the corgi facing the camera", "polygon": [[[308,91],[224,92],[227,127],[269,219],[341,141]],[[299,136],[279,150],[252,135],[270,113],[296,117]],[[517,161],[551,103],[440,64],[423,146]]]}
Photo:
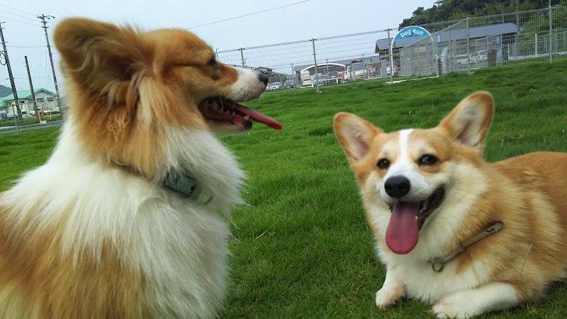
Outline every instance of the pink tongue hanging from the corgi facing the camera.
{"label": "pink tongue hanging from the corgi facing the camera", "polygon": [[419,239],[419,228],[415,216],[420,203],[395,203],[386,229],[386,245],[396,254],[411,252]]}

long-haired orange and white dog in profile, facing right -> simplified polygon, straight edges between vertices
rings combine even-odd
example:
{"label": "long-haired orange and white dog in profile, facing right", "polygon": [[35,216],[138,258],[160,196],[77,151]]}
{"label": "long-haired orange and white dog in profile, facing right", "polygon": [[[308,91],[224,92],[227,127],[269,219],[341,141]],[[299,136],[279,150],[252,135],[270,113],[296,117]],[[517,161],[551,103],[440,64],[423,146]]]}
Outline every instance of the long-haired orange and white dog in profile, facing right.
{"label": "long-haired orange and white dog in profile, facing right", "polygon": [[0,318],[216,318],[245,174],[216,133],[281,125],[268,78],[181,29],[68,18],[69,111],[47,162],[0,194]]}

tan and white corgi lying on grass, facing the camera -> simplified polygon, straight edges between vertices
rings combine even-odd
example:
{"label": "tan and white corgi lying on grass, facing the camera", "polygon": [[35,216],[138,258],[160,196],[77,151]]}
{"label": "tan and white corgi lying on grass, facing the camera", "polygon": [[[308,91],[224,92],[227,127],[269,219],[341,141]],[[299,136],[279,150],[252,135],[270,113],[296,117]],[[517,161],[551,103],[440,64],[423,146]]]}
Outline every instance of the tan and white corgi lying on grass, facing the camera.
{"label": "tan and white corgi lying on grass, facing the camera", "polygon": [[386,264],[379,308],[408,296],[437,318],[469,318],[535,301],[567,276],[567,154],[484,162],[492,118],[486,92],[427,130],[335,116]]}

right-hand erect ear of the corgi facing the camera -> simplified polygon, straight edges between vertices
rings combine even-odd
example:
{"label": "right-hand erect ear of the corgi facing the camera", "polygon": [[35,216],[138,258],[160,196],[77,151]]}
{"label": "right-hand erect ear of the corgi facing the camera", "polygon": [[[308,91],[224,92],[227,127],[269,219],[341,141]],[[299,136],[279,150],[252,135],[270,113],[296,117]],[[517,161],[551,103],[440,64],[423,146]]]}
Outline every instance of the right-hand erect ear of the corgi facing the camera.
{"label": "right-hand erect ear of the corgi facing the camera", "polygon": [[493,113],[492,96],[488,92],[476,92],[463,99],[439,126],[447,130],[451,138],[482,152]]}

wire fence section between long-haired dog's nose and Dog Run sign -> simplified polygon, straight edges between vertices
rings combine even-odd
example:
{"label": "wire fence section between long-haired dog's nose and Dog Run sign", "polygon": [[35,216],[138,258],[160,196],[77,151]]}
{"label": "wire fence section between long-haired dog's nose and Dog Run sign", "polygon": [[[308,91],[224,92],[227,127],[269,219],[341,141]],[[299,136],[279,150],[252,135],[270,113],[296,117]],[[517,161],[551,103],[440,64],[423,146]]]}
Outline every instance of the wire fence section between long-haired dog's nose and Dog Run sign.
{"label": "wire fence section between long-haired dog's nose and Dog Run sign", "polygon": [[[315,88],[360,79],[381,79],[377,38],[390,30],[217,51],[227,65],[256,69],[269,76],[267,90]],[[385,70],[384,70],[385,71]]]}

